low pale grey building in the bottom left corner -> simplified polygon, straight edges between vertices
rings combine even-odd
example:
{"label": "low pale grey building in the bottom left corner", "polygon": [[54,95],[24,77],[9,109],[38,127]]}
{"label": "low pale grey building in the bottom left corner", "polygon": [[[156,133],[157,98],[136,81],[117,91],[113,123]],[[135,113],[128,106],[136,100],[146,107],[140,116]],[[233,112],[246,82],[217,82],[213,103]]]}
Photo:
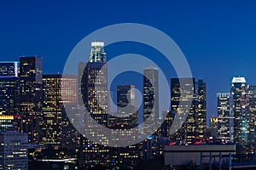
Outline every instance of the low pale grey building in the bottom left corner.
{"label": "low pale grey building in the bottom left corner", "polygon": [[15,131],[0,133],[0,169],[27,170],[27,134]]}

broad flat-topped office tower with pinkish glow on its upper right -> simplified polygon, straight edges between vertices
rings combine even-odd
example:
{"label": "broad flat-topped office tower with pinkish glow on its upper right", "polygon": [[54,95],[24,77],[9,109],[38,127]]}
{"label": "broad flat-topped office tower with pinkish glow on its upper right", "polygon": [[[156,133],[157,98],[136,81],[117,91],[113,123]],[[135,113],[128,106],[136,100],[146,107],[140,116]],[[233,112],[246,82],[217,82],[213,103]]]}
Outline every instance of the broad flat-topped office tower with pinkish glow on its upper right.
{"label": "broad flat-topped office tower with pinkish glow on its upper right", "polygon": [[[76,104],[76,83],[76,76],[43,75],[42,144],[61,144],[63,105]],[[61,87],[68,88],[61,91]]]}

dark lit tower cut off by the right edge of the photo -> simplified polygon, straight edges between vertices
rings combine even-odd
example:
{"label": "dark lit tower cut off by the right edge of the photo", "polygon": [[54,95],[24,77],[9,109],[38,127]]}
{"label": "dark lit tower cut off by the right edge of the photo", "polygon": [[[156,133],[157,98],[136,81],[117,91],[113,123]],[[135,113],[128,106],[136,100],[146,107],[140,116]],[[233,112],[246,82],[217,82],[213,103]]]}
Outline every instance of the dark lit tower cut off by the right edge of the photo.
{"label": "dark lit tower cut off by the right edge of the photo", "polygon": [[250,141],[250,149],[255,152],[255,134],[256,134],[256,86],[249,86],[248,89],[248,99],[249,99],[249,111],[250,111],[250,133],[249,133],[249,141]]}

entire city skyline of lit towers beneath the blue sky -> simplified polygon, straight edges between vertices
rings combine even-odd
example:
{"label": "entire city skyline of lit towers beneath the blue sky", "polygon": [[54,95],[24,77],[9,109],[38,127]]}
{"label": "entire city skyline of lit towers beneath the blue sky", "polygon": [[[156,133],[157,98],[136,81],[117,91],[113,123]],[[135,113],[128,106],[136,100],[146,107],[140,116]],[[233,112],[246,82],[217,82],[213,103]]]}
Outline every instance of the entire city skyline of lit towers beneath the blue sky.
{"label": "entire city skyline of lit towers beneath the blue sky", "polygon": [[[132,129],[138,129],[135,86],[117,86],[116,112],[126,117],[109,116],[107,87],[108,68],[111,67],[106,65],[104,42],[91,42],[90,48],[89,61],[77,65],[78,75],[44,75],[43,58],[38,56],[20,57],[20,62],[1,62],[3,92],[8,93],[1,94],[0,99],[12,105],[6,107],[6,113],[2,111],[2,133],[17,130],[20,133],[14,133],[15,138],[23,133],[24,138],[26,135],[28,137],[28,143],[25,144],[44,144],[48,150],[58,150],[63,146],[69,150],[79,148],[78,153],[82,156],[79,160],[89,167],[108,167],[121,162],[137,166],[140,159],[148,160],[163,154],[167,158],[168,152],[165,150],[170,149],[166,149],[168,145],[197,145],[206,141],[207,144],[232,144],[230,148],[233,149],[230,151],[235,148],[236,153],[254,153],[255,86],[247,83],[245,77],[233,77],[230,92],[217,94],[218,117],[211,117],[211,126],[207,128],[207,82],[195,77],[171,78],[171,88],[168,89],[171,92],[171,110],[159,111],[159,69],[152,65],[143,67],[143,117],[144,122],[151,116],[154,121],[146,125],[146,131],[141,128],[143,133],[152,135],[136,144],[117,147],[120,140],[132,141],[141,135]],[[78,94],[81,95],[79,99]],[[17,96],[17,105],[14,106],[13,99]],[[16,107],[17,111],[14,111]],[[110,127],[113,132],[104,133],[101,128],[96,129],[93,119],[85,114],[84,108],[96,124]],[[167,116],[161,117],[160,112]],[[165,122],[159,124],[163,118]],[[157,131],[148,132],[148,127],[157,127]],[[121,132],[121,136],[117,132]],[[100,142],[95,141],[94,136]],[[55,149],[51,149],[52,146]],[[26,153],[22,155],[25,158]]]}

